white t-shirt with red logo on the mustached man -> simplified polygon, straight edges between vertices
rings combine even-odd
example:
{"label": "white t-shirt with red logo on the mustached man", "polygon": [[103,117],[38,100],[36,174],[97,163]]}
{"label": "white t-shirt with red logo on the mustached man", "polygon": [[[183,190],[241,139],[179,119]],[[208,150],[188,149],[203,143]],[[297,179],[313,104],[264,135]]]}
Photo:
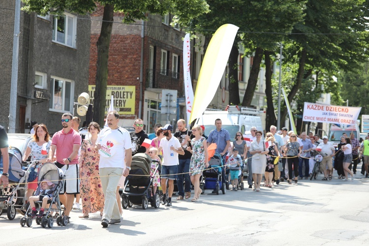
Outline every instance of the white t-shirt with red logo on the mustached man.
{"label": "white t-shirt with red logo on the mustached man", "polygon": [[125,150],[132,148],[131,137],[126,129],[105,127],[100,131],[96,144],[101,145],[99,168],[125,167]]}

